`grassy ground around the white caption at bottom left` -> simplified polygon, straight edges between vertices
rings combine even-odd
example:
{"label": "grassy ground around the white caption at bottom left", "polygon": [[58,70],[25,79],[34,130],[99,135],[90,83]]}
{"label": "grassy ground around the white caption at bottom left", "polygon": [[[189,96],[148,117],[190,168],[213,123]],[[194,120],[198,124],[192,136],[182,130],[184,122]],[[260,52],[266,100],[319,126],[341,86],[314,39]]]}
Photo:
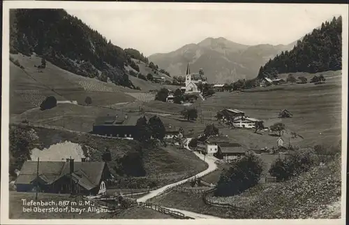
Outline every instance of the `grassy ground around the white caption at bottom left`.
{"label": "grassy ground around the white caption at bottom left", "polygon": [[[169,215],[164,215],[155,210],[141,208],[135,206],[121,212],[33,212],[34,207],[32,206],[32,212],[24,212],[23,201],[25,199],[27,202],[35,200],[35,193],[25,193],[25,192],[15,192],[10,191],[10,205],[9,205],[9,218],[10,219],[172,219]],[[47,194],[39,193],[38,201],[43,202],[54,202],[57,205],[59,201],[70,201],[78,202],[82,198],[70,198],[69,194]],[[84,200],[83,200],[84,201]],[[41,206],[40,208],[51,208],[52,206]],[[28,206],[25,208],[29,208]],[[62,207],[63,208],[63,207]],[[73,208],[86,209],[88,210],[88,205],[73,206]]]}

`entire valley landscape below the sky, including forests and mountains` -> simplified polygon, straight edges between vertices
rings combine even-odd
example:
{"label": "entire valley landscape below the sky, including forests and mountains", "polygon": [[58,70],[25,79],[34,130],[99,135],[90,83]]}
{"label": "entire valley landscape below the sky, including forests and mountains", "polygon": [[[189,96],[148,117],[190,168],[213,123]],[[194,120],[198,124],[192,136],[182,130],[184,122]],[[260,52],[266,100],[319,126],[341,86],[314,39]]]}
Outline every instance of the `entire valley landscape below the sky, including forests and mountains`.
{"label": "entire valley landscape below the sky, including forests and mountains", "polygon": [[[65,10],[10,18],[11,219],[341,217],[341,17],[288,45],[149,57]],[[105,212],[24,213],[22,198]]]}

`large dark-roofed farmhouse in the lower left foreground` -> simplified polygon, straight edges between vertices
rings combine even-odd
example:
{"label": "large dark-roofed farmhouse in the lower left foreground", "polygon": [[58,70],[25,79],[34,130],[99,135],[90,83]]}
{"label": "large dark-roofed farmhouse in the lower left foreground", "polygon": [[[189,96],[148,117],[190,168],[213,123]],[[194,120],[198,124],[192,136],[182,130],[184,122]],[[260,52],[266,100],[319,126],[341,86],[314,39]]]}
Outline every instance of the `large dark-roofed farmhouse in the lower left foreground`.
{"label": "large dark-roofed farmhouse in the lower left foreground", "polygon": [[[38,166],[38,173],[37,173]],[[57,194],[106,194],[111,174],[99,161],[25,161],[15,181],[17,191]]]}

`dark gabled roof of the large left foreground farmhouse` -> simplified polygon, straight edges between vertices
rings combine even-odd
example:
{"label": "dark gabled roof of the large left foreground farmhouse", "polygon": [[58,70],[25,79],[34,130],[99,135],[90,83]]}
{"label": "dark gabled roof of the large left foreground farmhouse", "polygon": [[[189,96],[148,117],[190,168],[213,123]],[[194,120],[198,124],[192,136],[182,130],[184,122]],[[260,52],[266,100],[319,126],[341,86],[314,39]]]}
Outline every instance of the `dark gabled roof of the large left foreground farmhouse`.
{"label": "dark gabled roof of the large left foreground farmhouse", "polygon": [[[25,161],[20,175],[17,177],[17,184],[30,184],[36,179],[36,161]],[[98,186],[103,173],[105,162],[100,161],[75,161],[73,180],[86,189],[93,189]],[[47,184],[52,184],[59,178],[69,175],[69,162],[66,161],[40,161],[39,177]]]}

